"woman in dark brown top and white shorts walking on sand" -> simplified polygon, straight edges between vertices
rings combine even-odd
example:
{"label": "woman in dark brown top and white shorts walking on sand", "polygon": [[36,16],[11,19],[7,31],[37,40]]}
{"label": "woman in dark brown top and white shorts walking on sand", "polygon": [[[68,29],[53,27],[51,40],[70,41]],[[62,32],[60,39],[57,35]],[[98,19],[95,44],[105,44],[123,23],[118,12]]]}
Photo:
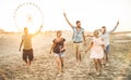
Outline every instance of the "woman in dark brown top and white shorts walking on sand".
{"label": "woman in dark brown top and white shorts walking on sand", "polygon": [[57,38],[52,40],[53,44],[49,52],[50,54],[51,54],[51,52],[55,53],[59,74],[63,72],[63,57],[64,57],[64,52],[66,52],[64,41],[66,41],[66,39],[61,38],[61,31],[58,30]]}

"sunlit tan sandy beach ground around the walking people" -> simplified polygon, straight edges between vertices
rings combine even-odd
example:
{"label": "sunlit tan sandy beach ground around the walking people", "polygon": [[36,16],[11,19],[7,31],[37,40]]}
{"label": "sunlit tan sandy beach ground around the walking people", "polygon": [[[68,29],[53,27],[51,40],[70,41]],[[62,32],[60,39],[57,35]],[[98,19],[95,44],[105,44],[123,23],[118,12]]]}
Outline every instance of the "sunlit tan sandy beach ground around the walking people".
{"label": "sunlit tan sandy beach ground around the walking people", "polygon": [[[75,66],[72,32],[64,31],[62,36],[67,39],[64,72],[58,76],[53,53],[49,54],[56,32],[33,38],[35,58],[29,69],[19,52],[22,34],[0,34],[0,80],[131,80],[131,34],[110,36],[109,66],[103,67],[100,76],[95,75],[90,52],[83,52],[81,66]],[[91,38],[86,38],[87,44],[90,41]]]}

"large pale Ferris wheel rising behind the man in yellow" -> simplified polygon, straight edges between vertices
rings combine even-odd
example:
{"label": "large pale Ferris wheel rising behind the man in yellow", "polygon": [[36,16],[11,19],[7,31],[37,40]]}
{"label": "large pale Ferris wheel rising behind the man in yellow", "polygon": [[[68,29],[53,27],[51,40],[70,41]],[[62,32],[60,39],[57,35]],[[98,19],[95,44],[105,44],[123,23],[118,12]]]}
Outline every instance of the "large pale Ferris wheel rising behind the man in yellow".
{"label": "large pale Ferris wheel rising behind the man in yellow", "polygon": [[14,24],[19,31],[24,27],[28,28],[29,34],[34,34],[44,23],[44,15],[38,5],[32,2],[20,4],[14,12]]}

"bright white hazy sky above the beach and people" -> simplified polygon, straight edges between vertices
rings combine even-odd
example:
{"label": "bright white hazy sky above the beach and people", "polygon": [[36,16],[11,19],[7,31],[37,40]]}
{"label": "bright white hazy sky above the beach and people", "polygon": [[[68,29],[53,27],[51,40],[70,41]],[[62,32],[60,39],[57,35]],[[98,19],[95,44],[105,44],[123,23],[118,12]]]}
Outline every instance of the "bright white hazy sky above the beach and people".
{"label": "bright white hazy sky above the beach and people", "polygon": [[[43,11],[33,5],[21,6],[25,2],[35,3]],[[0,0],[0,28],[5,31],[22,31],[28,27],[36,31],[41,25],[43,30],[71,30],[67,24],[63,12],[69,21],[75,26],[81,21],[86,31],[93,31],[102,26],[111,30],[117,22],[120,24],[117,31],[131,31],[131,0]],[[27,22],[27,16],[32,21]]]}

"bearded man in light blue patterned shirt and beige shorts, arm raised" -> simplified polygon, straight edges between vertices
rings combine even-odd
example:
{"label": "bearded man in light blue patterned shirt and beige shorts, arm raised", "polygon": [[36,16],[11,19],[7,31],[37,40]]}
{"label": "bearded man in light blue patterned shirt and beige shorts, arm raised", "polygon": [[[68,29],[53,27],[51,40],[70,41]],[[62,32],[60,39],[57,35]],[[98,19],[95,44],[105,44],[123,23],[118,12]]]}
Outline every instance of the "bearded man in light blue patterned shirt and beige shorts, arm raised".
{"label": "bearded man in light blue patterned shirt and beige shorts, arm raised", "polygon": [[84,29],[81,27],[81,22],[76,21],[76,26],[73,26],[69,19],[67,18],[66,13],[63,13],[63,16],[67,21],[67,23],[70,25],[70,27],[73,29],[73,46],[74,51],[76,53],[76,65],[81,64],[81,51],[82,51],[82,44],[86,44],[85,37],[84,37]]}

